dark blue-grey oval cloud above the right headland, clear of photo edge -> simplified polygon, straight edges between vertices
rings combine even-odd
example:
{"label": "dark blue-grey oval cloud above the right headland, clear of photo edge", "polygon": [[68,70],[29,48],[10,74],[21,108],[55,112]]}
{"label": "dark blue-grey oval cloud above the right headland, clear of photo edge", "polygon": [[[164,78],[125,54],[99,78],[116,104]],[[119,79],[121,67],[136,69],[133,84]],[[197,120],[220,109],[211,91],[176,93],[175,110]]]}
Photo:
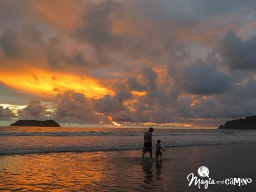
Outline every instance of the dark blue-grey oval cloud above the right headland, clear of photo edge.
{"label": "dark blue-grey oval cloud above the right headland, clear of photo edge", "polygon": [[186,92],[211,95],[228,91],[230,78],[226,73],[219,71],[216,65],[199,61],[183,68],[178,75],[177,83]]}

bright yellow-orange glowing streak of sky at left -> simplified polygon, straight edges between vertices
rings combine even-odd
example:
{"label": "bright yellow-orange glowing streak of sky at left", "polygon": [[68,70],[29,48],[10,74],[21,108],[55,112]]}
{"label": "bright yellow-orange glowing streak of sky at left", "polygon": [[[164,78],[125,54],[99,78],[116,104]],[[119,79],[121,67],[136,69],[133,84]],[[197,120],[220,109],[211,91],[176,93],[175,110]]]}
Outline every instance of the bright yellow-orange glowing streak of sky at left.
{"label": "bright yellow-orange glowing streak of sky at left", "polygon": [[100,85],[91,77],[75,76],[66,73],[26,68],[22,71],[0,72],[0,82],[17,90],[35,95],[56,95],[65,91],[84,93],[87,97],[102,97],[113,92]]}

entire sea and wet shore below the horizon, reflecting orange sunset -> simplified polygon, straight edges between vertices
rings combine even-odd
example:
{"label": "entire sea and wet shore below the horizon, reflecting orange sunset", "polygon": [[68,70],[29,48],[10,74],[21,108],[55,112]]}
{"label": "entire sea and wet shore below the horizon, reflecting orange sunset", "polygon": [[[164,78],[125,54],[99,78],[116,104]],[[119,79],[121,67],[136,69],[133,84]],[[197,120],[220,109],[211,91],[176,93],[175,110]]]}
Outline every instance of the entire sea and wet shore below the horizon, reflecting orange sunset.
{"label": "entire sea and wet shore below the horizon, reflecting orange sunset", "polygon": [[[145,129],[2,127],[1,191],[254,191],[255,131],[156,129],[162,161],[141,158]],[[154,155],[153,149],[153,157]],[[244,186],[191,184],[250,178]],[[200,189],[199,189],[200,187]]]}

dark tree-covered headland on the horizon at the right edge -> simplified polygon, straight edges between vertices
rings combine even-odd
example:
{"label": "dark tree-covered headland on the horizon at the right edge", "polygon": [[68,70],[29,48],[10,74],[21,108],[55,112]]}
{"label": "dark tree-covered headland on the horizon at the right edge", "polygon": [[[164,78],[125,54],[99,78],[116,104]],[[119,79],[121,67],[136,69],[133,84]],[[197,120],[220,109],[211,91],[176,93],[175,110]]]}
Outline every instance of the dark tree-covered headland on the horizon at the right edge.
{"label": "dark tree-covered headland on the horizon at the right edge", "polygon": [[220,125],[218,129],[256,129],[256,115],[226,121],[225,125]]}

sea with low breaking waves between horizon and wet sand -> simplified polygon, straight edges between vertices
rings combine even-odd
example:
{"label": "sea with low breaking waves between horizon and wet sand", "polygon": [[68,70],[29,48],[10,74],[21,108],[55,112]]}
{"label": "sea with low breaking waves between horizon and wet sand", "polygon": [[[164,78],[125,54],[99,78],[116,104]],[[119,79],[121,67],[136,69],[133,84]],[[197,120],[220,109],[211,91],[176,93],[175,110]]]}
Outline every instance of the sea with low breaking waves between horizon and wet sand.
{"label": "sea with low breaking waves between horizon and wet sand", "polygon": [[[0,155],[141,149],[147,129],[83,127],[0,127]],[[255,130],[155,129],[162,146],[256,142]]]}

